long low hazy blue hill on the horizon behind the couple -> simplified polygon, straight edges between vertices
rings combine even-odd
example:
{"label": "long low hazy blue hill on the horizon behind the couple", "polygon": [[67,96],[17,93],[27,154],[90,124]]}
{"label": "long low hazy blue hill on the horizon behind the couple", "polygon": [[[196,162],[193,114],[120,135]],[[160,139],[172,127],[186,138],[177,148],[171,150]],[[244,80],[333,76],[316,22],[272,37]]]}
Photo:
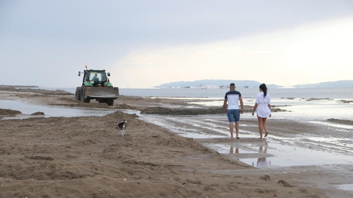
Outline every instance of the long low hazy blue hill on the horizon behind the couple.
{"label": "long low hazy blue hill on the horizon behind the couple", "polygon": [[[258,88],[262,83],[254,80],[196,80],[196,81],[179,81],[164,83],[160,86],[155,86],[155,88],[196,88],[200,86],[216,85],[216,86],[229,86],[230,83],[234,83],[238,88]],[[274,84],[266,85],[268,88],[279,88],[283,86],[278,86]],[[215,87],[212,87],[215,88]],[[217,88],[217,87],[216,87]]]}

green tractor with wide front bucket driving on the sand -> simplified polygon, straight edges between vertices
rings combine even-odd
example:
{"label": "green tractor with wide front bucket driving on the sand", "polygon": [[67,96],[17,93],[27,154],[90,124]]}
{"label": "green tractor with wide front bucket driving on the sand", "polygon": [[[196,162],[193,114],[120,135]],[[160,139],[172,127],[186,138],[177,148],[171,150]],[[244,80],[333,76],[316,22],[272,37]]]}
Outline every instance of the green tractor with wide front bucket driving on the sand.
{"label": "green tractor with wide front bucket driving on the sand", "polygon": [[96,99],[98,103],[107,103],[109,106],[114,104],[114,99],[119,97],[119,88],[113,87],[107,78],[110,76],[106,70],[87,69],[78,72],[78,76],[83,73],[82,86],[76,87],[75,100],[89,103],[91,99]]}

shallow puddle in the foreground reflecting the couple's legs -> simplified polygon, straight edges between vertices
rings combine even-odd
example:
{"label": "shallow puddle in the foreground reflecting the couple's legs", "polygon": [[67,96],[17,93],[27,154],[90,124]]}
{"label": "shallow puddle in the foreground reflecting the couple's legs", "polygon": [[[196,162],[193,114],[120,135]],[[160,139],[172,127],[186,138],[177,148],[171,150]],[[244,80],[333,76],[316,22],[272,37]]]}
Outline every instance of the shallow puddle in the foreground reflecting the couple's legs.
{"label": "shallow puddle in the foreground reflecting the couple's legs", "polygon": [[328,153],[301,147],[289,147],[273,141],[242,143],[204,143],[220,154],[240,160],[257,168],[284,166],[309,166],[330,164],[352,164],[353,156]]}

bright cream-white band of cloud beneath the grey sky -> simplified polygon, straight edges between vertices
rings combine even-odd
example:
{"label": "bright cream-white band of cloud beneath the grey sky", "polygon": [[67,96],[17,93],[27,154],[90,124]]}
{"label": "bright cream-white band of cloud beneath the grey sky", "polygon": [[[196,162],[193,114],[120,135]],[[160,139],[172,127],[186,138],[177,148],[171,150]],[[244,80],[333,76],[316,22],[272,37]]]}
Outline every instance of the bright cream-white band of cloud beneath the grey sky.
{"label": "bright cream-white band of cloud beneath the grey sky", "polygon": [[352,17],[344,17],[231,40],[143,47],[115,62],[124,71],[117,81],[141,88],[201,79],[279,85],[347,80],[353,72],[352,24]]}

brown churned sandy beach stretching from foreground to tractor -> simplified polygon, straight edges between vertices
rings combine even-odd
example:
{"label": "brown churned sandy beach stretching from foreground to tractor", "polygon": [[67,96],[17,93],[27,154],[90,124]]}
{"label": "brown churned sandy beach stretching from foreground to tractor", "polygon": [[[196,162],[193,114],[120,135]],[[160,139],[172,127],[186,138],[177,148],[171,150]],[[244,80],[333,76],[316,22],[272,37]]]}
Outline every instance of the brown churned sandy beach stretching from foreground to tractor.
{"label": "brown churned sandy beach stretching from foreground to tractor", "polygon": [[[35,105],[117,110],[106,116],[1,119],[1,198],[353,197],[352,191],[332,187],[352,183],[352,165],[255,168],[237,160],[236,155],[266,156],[267,140],[256,137],[240,140],[185,138],[138,119],[137,115],[119,111],[199,115],[221,113],[220,107],[206,108],[180,99],[129,96],[121,96],[113,106],[108,106],[97,101],[81,103],[74,100],[73,94],[61,91],[44,93],[31,89],[23,92],[2,90],[0,99]],[[251,106],[245,107],[247,112],[251,109]],[[0,117],[6,118],[18,114],[11,110],[0,113]],[[115,129],[120,120],[127,121],[124,137]],[[242,122],[249,124],[243,129],[257,131],[255,119]],[[293,139],[310,130],[322,134],[332,132],[323,126],[288,120],[271,120],[269,125],[269,131],[274,135]],[[232,146],[227,154],[222,154],[205,146],[208,143]],[[244,144],[256,145],[260,154],[237,153],[237,148]]]}

